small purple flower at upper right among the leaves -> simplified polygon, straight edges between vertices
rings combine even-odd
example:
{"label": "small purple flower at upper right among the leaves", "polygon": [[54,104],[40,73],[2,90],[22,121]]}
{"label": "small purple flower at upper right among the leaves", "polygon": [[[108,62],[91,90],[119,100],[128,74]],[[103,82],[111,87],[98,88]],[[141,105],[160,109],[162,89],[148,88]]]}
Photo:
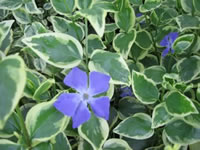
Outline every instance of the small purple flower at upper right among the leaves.
{"label": "small purple flower at upper right among the leaves", "polygon": [[164,51],[162,52],[162,57],[165,57],[170,50],[172,53],[174,53],[174,50],[172,49],[172,44],[174,43],[177,37],[177,32],[171,32],[162,39],[160,45],[166,47],[166,49],[164,49]]}

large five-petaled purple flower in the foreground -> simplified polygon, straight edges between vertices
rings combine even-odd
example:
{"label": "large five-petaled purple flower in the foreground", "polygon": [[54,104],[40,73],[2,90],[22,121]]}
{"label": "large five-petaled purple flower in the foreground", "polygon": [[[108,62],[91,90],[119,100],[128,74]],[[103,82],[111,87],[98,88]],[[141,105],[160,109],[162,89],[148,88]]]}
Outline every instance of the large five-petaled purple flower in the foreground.
{"label": "large five-petaled purple flower in the foreground", "polygon": [[109,98],[107,96],[94,96],[108,90],[110,76],[93,71],[89,74],[89,81],[88,85],[86,72],[77,67],[73,68],[65,77],[64,83],[76,89],[78,93],[63,93],[54,103],[54,107],[58,111],[72,117],[73,128],[77,128],[90,119],[90,111],[87,104],[90,104],[96,116],[106,120],[109,118]]}

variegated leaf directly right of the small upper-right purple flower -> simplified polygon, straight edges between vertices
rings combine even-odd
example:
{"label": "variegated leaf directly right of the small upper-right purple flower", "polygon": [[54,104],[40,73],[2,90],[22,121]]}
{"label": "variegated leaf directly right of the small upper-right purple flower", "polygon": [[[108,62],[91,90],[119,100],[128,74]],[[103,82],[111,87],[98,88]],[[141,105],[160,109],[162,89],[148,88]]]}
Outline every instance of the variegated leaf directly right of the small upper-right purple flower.
{"label": "variegated leaf directly right of the small upper-right purple flower", "polygon": [[191,49],[190,47],[193,44],[194,39],[194,34],[184,34],[178,37],[173,44],[173,49],[175,50],[175,53],[186,53],[188,49]]}

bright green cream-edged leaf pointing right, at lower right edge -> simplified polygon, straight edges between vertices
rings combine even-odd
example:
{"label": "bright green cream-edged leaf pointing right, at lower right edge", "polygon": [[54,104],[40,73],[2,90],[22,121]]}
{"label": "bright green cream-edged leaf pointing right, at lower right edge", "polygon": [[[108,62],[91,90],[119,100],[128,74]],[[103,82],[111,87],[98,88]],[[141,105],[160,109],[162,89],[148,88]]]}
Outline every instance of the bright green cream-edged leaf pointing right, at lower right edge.
{"label": "bright green cream-edged leaf pointing right, at lower right edge", "polygon": [[164,97],[167,110],[172,116],[184,117],[197,114],[198,111],[192,101],[177,91],[171,91]]}

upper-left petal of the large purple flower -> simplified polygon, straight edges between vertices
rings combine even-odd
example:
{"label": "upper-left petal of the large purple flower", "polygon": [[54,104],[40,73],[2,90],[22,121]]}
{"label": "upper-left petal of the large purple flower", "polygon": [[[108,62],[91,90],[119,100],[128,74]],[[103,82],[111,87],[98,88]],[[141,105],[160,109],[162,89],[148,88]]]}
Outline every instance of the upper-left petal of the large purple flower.
{"label": "upper-left petal of the large purple flower", "polygon": [[86,72],[80,70],[78,67],[73,68],[65,77],[64,83],[78,92],[85,92],[88,88],[88,80]]}

